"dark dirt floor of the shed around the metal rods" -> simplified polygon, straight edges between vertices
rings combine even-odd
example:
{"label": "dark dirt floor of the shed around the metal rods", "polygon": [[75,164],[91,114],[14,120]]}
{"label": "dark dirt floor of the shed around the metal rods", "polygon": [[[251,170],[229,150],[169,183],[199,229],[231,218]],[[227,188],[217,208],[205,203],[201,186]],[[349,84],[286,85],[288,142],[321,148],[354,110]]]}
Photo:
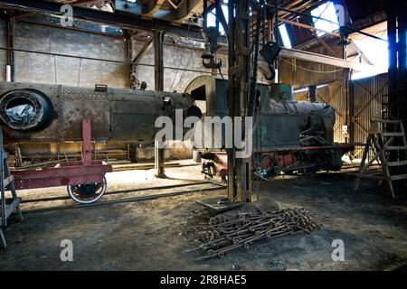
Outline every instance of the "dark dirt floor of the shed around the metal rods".
{"label": "dark dirt floor of the shed around the metal rods", "polygon": [[[391,200],[376,183],[363,182],[352,190],[354,177],[320,173],[313,177],[279,178],[260,184],[260,210],[303,207],[322,218],[320,231],[254,243],[223,259],[195,261],[198,252],[182,236],[183,229],[210,214],[195,200],[222,196],[212,183],[177,189],[147,187],[202,182],[199,166],[168,168],[167,180],[153,171],[112,172],[102,200],[134,198],[157,193],[192,191],[157,200],[107,204],[98,207],[24,214],[5,231],[6,250],[0,250],[1,270],[382,270],[407,259],[407,205]],[[137,191],[134,191],[137,190]],[[72,205],[66,188],[20,191],[23,210]],[[48,201],[27,200],[51,198]],[[254,204],[248,209],[253,210]],[[73,262],[60,258],[63,239],[73,243]],[[333,240],[345,245],[345,261],[332,260]]]}

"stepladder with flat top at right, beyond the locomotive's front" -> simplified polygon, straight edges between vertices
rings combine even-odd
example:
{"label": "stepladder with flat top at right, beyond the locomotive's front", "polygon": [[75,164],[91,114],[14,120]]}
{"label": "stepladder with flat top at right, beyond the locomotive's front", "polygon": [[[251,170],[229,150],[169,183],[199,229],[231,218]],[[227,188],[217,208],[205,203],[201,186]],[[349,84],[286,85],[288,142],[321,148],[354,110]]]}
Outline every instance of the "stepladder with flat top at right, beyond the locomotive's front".
{"label": "stepladder with flat top at right, beyond the locomotive's front", "polygon": [[[386,132],[383,131],[384,126],[386,127]],[[389,129],[391,126],[393,126],[393,129]],[[391,132],[391,130],[393,131]],[[355,191],[359,189],[361,179],[384,181],[387,182],[392,197],[395,198],[393,182],[407,180],[405,171],[402,173],[395,172],[400,171],[397,169],[407,167],[407,141],[402,121],[371,120],[371,127],[368,133],[369,135],[364,146],[364,155],[360,164],[359,173],[356,176],[354,189]],[[365,164],[370,148],[373,148],[374,156]],[[372,173],[370,169],[376,161],[381,165],[382,172]]]}

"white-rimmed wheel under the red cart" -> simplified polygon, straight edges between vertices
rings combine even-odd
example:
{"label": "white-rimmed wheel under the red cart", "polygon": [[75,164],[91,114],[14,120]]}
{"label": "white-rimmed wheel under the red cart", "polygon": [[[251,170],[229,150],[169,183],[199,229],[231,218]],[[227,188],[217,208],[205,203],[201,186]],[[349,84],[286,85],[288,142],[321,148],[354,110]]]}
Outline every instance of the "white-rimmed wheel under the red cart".
{"label": "white-rimmed wheel under the red cart", "polygon": [[72,200],[80,204],[90,204],[103,196],[108,187],[106,177],[103,177],[103,182],[80,183],[76,185],[68,185],[67,191]]}

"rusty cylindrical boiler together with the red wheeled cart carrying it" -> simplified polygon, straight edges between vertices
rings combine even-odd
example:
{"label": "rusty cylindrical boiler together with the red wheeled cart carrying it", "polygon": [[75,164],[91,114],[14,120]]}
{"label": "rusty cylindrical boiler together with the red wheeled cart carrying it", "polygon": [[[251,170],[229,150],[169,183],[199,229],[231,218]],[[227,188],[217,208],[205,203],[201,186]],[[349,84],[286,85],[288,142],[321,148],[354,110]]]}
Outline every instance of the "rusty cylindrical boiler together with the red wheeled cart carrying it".
{"label": "rusty cylindrical boiler together with the red wheeled cart carrying it", "polygon": [[[112,167],[92,159],[91,141],[152,142],[161,129],[155,126],[157,117],[170,117],[174,131],[182,126],[175,121],[180,115],[175,110],[182,110],[183,118],[201,117],[194,98],[185,93],[0,82],[0,128],[5,144],[82,143],[80,162],[13,170],[13,188],[9,184],[8,189],[67,186],[72,200],[99,200],[107,188],[105,174]],[[176,136],[173,139],[179,140]]]}

